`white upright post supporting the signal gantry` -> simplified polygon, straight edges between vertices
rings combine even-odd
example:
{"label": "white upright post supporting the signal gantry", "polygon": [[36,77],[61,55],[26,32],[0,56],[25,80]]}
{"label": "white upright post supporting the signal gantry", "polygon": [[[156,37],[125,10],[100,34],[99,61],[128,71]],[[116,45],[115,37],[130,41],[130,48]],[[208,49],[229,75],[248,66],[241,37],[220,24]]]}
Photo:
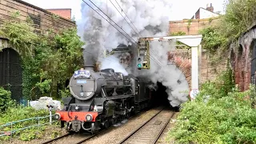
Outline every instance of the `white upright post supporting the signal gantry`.
{"label": "white upright post supporting the signal gantry", "polygon": [[198,89],[198,47],[191,47],[191,88]]}

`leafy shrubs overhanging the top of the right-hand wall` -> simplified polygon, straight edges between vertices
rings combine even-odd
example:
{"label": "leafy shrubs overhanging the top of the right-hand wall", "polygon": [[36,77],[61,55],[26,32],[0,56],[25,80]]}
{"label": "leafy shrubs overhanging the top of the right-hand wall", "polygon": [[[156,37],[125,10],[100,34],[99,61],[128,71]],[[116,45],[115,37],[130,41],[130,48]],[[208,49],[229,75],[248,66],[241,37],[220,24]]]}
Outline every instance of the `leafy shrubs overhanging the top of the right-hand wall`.
{"label": "leafy shrubs overhanging the top of the right-hand wall", "polygon": [[229,0],[226,3],[226,14],[218,22],[201,30],[202,47],[209,50],[210,54],[223,54],[229,49],[230,42],[237,41],[254,24],[255,12],[256,0]]}

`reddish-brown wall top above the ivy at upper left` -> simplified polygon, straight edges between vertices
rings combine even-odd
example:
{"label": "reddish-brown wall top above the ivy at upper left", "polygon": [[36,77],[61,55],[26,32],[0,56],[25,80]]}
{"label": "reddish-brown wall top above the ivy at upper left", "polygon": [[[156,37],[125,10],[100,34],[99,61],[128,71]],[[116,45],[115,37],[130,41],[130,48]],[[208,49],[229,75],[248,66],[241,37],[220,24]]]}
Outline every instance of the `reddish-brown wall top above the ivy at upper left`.
{"label": "reddish-brown wall top above the ivy at upper left", "polygon": [[27,2],[19,0],[1,0],[0,1],[0,23],[5,19],[11,18],[10,15],[16,11],[20,12],[20,20],[26,20],[30,17],[37,25],[38,30],[48,30],[52,28],[55,32],[76,26],[74,22],[66,18],[54,18],[54,14],[43,10],[37,6],[30,5]]}

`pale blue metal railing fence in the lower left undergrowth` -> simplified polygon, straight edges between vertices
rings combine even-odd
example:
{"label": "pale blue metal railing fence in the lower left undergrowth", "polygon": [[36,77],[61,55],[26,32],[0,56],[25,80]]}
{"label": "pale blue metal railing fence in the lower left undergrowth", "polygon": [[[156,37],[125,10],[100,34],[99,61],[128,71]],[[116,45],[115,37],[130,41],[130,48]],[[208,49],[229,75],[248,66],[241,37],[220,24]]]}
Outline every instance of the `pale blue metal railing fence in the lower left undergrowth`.
{"label": "pale blue metal railing fence in the lower left undergrowth", "polygon": [[[19,121],[15,121],[15,122],[8,122],[5,125],[0,126],[0,137],[3,136],[10,136],[10,140],[12,138],[12,135],[15,132],[21,131],[21,130],[26,130],[32,127],[40,127],[40,126],[45,126],[47,124],[51,124],[53,122],[57,122],[52,121],[52,118],[55,116],[55,114],[51,114],[45,117],[35,117],[35,118],[26,118],[26,119],[22,119]],[[49,118],[49,120],[47,119]],[[22,124],[21,124],[22,123]]]}

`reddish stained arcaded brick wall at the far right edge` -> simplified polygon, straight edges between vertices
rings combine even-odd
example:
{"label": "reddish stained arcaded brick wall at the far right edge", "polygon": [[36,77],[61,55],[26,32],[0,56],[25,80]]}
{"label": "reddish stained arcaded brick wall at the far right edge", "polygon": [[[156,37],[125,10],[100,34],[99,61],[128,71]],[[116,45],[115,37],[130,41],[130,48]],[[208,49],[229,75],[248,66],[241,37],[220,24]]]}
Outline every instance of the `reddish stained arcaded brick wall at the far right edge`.
{"label": "reddish stained arcaded brick wall at the far right edge", "polygon": [[[230,45],[230,60],[231,66],[234,70],[235,83],[239,86],[240,90],[248,90],[250,82],[255,83],[255,71],[251,71],[252,56],[255,55],[255,41],[256,26],[252,26],[239,38],[238,44],[233,43]],[[255,57],[255,56],[254,56]]]}

